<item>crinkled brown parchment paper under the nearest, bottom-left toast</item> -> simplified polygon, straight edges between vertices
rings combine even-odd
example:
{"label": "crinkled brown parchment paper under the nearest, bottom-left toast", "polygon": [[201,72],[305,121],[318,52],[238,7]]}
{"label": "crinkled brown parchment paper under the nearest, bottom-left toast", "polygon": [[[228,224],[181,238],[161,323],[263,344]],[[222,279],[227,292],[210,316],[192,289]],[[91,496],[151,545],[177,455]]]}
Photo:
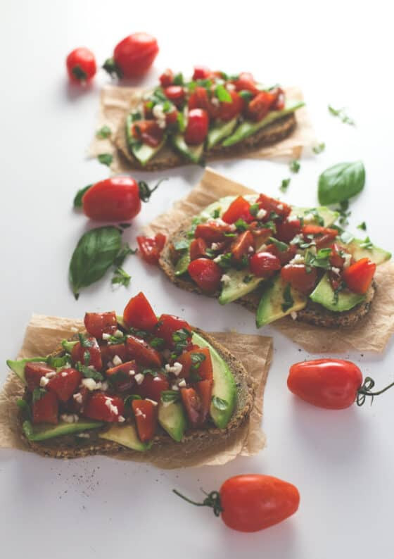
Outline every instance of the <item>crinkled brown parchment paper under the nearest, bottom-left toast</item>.
{"label": "crinkled brown parchment paper under the nearest, bottom-left toast", "polygon": [[[82,320],[58,318],[45,315],[32,315],[27,325],[23,346],[18,358],[46,356],[54,351],[63,338],[70,338],[75,332],[84,330]],[[272,338],[253,336],[249,334],[234,334],[230,332],[212,332],[220,344],[241,360],[248,371],[248,375],[255,382],[256,396],[253,411],[249,420],[236,432],[214,449],[198,456],[182,458],[182,464],[173,455],[160,449],[161,456],[141,455],[128,456],[127,453],[106,454],[121,460],[138,460],[151,462],[158,467],[186,467],[202,465],[222,465],[236,456],[253,456],[265,446],[265,434],[261,429],[262,402],[269,366],[272,361]],[[16,429],[15,418],[18,413],[16,400],[24,392],[23,384],[13,372],[10,372],[3,389],[0,392],[0,448],[19,448],[29,451],[25,442],[20,439]]]}

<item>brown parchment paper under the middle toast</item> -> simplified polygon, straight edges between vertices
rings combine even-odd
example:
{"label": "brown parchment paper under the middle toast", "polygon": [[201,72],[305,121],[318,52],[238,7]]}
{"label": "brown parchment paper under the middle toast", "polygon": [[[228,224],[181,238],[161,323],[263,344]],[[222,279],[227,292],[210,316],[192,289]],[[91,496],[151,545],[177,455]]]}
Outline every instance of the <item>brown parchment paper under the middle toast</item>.
{"label": "brown parchment paper under the middle toast", "polygon": [[[186,218],[201,212],[203,208],[222,196],[256,194],[252,189],[229,180],[207,168],[201,181],[189,194],[174,206],[155,218],[146,234],[163,232],[171,237]],[[343,351],[383,351],[394,332],[394,264],[386,263],[376,268],[376,294],[371,310],[352,328],[324,328],[283,318],[272,326],[311,353],[341,353]],[[215,304],[212,302],[212,304]]]}

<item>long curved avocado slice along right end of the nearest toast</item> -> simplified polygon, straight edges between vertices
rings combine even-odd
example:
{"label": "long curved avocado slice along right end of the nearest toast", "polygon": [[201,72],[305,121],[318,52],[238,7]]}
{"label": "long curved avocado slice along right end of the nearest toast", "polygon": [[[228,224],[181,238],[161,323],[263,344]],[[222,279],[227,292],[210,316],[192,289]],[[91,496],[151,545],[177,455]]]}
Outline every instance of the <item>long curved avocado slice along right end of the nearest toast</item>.
{"label": "long curved avocado slice along right end of the nearest toast", "polygon": [[[236,403],[236,384],[229,365],[212,348],[208,341],[193,332],[192,341],[201,347],[208,347],[213,367],[212,403],[210,417],[219,429],[224,429],[234,412]],[[220,406],[220,408],[218,407]]]}

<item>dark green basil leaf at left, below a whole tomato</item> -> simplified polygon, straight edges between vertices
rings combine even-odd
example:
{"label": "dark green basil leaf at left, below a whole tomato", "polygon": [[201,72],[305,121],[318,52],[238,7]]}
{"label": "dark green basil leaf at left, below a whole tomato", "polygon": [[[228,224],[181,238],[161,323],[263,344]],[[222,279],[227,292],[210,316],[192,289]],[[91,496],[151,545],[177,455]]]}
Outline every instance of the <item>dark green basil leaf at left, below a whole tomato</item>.
{"label": "dark green basil leaf at left, below a whole tomato", "polygon": [[101,279],[113,265],[122,246],[120,231],[113,226],[98,227],[84,233],[70,261],[70,284],[75,299],[80,290]]}

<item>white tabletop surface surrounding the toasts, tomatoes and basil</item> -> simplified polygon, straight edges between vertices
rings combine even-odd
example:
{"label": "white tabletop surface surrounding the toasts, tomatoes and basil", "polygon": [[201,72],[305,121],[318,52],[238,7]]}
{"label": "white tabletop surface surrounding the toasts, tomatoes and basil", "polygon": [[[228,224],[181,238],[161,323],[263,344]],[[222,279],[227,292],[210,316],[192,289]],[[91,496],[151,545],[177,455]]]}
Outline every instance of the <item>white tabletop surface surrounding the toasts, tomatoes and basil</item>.
{"label": "white tabletop surface surrounding the toasts, tomatoes and basil", "polygon": [[[82,317],[85,310],[122,310],[141,288],[158,312],[179,313],[208,330],[255,332],[247,310],[220,308],[176,289],[138,257],[125,265],[132,274],[129,290],[112,291],[106,278],[79,301],[73,299],[68,262],[90,224],[72,211],[72,197],[108,176],[105,166],[84,159],[99,88],[108,78],[100,73],[91,89],[70,89],[64,59],[76,46],[89,46],[102,62],[122,37],[147,30],[161,49],[148,80],[168,66],[187,73],[193,63],[205,63],[234,73],[250,70],[267,82],[299,84],[326,151],[302,161],[284,199],[314,206],[319,172],[362,158],[367,184],[352,202],[350,230],[366,220],[371,239],[393,250],[392,20],[386,2],[366,9],[362,4],[3,0],[1,362],[18,351],[33,311]],[[327,103],[349,106],[357,127],[330,117]],[[279,195],[281,180],[290,176],[284,163],[212,166],[272,195]],[[149,175],[151,181],[171,179],[125,238],[134,245],[140,227],[184,196],[201,173],[189,167]],[[259,456],[224,467],[167,472],[108,458],[61,462],[0,451],[1,556],[392,557],[394,395],[376,398],[372,407],[338,412],[297,401],[286,388],[288,366],[308,356],[274,330],[262,333],[274,335],[275,353],[263,421],[268,446]],[[393,349],[391,343],[383,356],[345,357],[381,387],[393,380]],[[5,378],[3,367],[1,382]],[[265,532],[245,535],[231,532],[210,510],[171,494],[177,487],[198,497],[200,486],[216,489],[229,475],[245,472],[297,485],[298,513]]]}

